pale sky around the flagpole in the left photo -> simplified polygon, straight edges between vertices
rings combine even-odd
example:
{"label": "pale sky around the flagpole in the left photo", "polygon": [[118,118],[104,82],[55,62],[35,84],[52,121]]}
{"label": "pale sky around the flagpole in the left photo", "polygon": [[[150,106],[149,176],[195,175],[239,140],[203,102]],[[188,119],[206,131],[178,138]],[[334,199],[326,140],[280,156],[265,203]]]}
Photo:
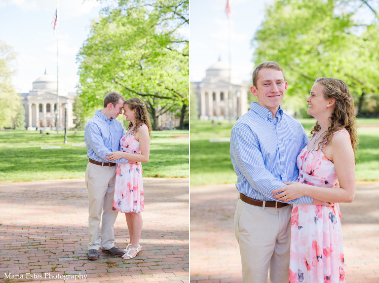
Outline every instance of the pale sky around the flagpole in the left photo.
{"label": "pale sky around the flagpole in the left photo", "polygon": [[[60,0],[59,81],[76,92],[76,54],[88,37],[92,19],[105,4],[96,0]],[[26,93],[45,68],[57,74],[57,38],[53,35],[56,0],[0,0],[0,40],[17,53],[17,74],[12,82]]]}

